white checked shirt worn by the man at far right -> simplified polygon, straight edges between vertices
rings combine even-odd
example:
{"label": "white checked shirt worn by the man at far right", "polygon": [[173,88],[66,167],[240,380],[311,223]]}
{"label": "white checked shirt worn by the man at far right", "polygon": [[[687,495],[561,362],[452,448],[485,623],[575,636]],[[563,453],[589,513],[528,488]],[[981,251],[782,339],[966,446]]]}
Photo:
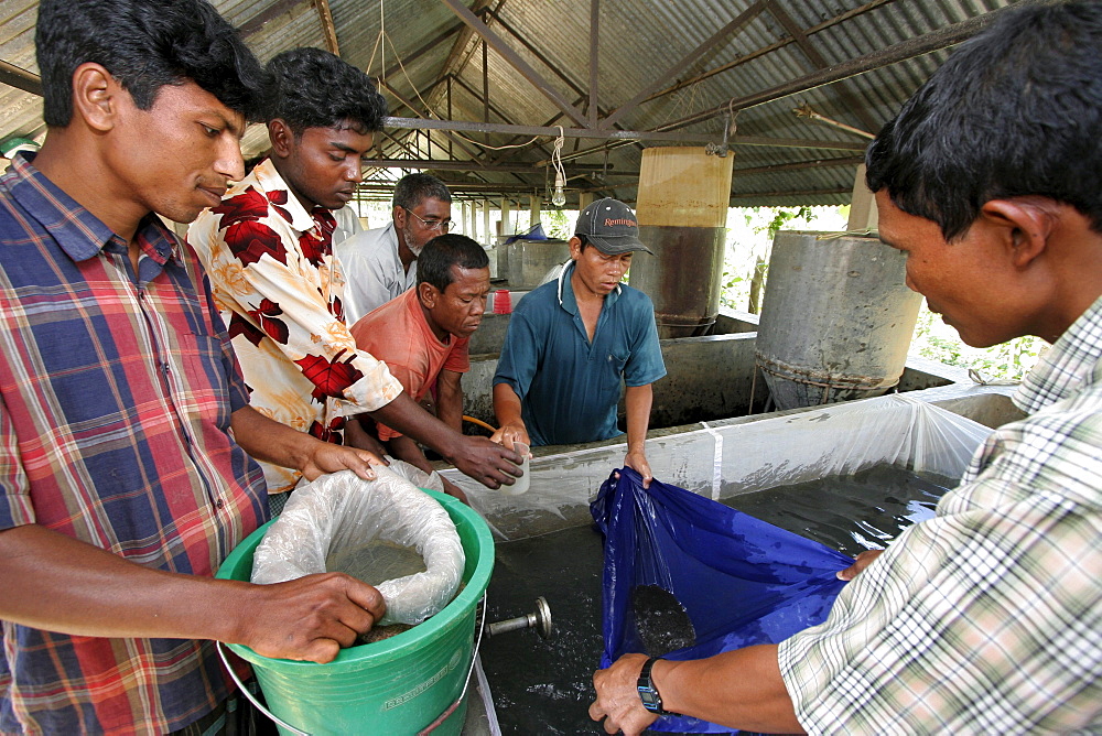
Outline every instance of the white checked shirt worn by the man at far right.
{"label": "white checked shirt worn by the man at far right", "polygon": [[[780,645],[809,733],[1102,728],[1102,299],[937,516]],[[1095,732],[1096,733],[1096,732]]]}

